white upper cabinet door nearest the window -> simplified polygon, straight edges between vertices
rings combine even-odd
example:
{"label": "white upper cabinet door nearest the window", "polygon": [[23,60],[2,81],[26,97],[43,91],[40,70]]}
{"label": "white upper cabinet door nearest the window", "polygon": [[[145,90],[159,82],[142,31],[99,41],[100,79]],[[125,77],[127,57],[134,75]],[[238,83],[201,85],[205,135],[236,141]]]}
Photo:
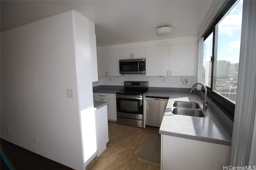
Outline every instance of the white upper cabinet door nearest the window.
{"label": "white upper cabinet door nearest the window", "polygon": [[197,43],[170,45],[171,76],[196,76]]}

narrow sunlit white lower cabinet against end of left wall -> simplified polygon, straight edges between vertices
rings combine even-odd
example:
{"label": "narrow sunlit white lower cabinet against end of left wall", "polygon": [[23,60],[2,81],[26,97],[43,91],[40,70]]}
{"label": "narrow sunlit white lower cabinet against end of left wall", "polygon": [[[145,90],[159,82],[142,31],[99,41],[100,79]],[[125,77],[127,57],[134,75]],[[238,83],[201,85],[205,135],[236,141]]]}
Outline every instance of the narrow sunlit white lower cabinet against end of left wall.
{"label": "narrow sunlit white lower cabinet against end of left wall", "polygon": [[100,107],[94,111],[95,126],[96,126],[96,140],[97,140],[97,155],[98,157],[106,149],[108,143],[108,114],[107,106]]}

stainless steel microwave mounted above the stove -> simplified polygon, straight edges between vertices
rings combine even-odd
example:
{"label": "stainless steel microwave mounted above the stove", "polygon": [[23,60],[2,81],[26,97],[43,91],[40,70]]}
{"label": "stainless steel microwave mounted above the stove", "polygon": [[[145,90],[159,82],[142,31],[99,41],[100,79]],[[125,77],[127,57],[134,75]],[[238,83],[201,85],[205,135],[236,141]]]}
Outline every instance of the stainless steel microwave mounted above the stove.
{"label": "stainless steel microwave mounted above the stove", "polygon": [[146,74],[146,59],[119,60],[120,74]]}

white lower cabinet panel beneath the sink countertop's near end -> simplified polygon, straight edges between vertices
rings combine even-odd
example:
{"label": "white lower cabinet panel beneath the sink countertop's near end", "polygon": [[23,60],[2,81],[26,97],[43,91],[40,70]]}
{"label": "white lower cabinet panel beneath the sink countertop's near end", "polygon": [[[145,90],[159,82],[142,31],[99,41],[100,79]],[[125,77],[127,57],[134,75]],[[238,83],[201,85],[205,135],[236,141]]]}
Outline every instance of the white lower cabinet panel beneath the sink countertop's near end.
{"label": "white lower cabinet panel beneath the sink countertop's near end", "polygon": [[161,135],[161,170],[216,170],[230,146]]}

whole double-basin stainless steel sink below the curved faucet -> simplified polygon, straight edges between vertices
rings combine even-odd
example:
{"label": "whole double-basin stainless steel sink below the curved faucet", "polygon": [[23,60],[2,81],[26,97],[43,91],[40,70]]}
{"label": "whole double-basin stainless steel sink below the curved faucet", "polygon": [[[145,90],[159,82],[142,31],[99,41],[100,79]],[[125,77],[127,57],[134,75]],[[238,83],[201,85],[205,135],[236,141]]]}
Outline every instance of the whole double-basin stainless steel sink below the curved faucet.
{"label": "whole double-basin stainless steel sink below the curved faucet", "polygon": [[174,101],[172,113],[194,117],[204,117],[204,113],[198,103]]}

